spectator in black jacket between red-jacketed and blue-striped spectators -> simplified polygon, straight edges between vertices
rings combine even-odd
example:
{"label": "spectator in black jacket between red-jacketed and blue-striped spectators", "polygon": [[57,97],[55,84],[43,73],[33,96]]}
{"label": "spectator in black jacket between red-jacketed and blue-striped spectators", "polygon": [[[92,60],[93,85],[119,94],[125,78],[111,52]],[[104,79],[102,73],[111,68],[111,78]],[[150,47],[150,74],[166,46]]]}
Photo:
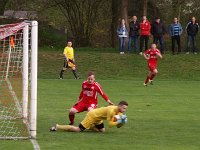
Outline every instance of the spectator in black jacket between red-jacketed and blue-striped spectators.
{"label": "spectator in black jacket between red-jacketed and blue-striped spectators", "polygon": [[165,34],[166,30],[163,25],[163,23],[160,21],[160,18],[157,17],[155,22],[152,24],[151,27],[151,34],[153,35],[153,43],[156,45],[158,44],[158,41],[160,43],[160,51],[163,54],[164,53],[164,38],[163,35]]}

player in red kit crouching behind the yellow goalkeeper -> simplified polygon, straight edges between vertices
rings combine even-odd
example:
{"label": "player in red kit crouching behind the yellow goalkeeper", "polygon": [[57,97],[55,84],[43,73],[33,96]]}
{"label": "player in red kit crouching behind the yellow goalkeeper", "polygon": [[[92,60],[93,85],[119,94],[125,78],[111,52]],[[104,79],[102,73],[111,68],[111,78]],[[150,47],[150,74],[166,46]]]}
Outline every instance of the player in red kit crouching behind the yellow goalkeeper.
{"label": "player in red kit crouching behind the yellow goalkeeper", "polygon": [[74,124],[76,113],[90,111],[97,107],[98,93],[108,102],[109,105],[113,105],[108,96],[103,92],[99,83],[95,82],[95,74],[93,72],[89,72],[87,81],[84,81],[82,83],[82,91],[78,98],[78,102],[74,106],[72,106],[69,111],[70,125]]}

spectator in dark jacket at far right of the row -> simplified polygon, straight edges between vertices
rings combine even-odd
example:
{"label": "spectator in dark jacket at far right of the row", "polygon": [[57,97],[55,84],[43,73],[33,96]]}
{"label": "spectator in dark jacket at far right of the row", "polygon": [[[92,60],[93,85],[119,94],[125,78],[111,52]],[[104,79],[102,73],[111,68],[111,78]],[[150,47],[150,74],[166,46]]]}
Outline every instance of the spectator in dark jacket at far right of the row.
{"label": "spectator in dark jacket at far right of the row", "polygon": [[186,26],[186,32],[187,32],[187,52],[186,54],[189,54],[190,51],[190,42],[192,42],[192,52],[193,54],[197,54],[197,48],[196,48],[196,35],[199,31],[199,25],[196,22],[196,18],[192,17],[191,21]]}

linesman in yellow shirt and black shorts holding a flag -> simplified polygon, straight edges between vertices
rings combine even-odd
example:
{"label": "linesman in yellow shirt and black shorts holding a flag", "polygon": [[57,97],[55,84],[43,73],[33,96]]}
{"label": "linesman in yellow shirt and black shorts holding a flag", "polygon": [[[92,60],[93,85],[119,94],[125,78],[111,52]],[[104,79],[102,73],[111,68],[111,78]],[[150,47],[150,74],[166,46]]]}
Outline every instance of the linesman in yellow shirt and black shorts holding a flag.
{"label": "linesman in yellow shirt and black shorts holding a flag", "polygon": [[59,79],[63,79],[63,73],[67,68],[71,68],[75,79],[78,79],[79,77],[76,72],[76,65],[75,65],[75,60],[74,60],[74,49],[72,47],[71,41],[67,42],[67,46],[64,49],[63,55],[64,55],[65,59],[64,59],[63,68],[60,71]]}

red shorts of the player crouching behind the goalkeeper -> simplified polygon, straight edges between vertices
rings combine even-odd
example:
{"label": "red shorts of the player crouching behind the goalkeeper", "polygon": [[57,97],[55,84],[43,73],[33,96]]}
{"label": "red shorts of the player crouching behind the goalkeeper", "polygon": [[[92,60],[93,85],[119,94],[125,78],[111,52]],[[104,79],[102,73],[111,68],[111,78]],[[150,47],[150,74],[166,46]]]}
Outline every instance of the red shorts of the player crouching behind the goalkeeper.
{"label": "red shorts of the player crouching behind the goalkeeper", "polygon": [[73,108],[78,110],[78,112],[88,111],[88,108],[92,107],[93,109],[97,108],[97,104],[95,103],[86,103],[85,101],[79,101],[76,103]]}

